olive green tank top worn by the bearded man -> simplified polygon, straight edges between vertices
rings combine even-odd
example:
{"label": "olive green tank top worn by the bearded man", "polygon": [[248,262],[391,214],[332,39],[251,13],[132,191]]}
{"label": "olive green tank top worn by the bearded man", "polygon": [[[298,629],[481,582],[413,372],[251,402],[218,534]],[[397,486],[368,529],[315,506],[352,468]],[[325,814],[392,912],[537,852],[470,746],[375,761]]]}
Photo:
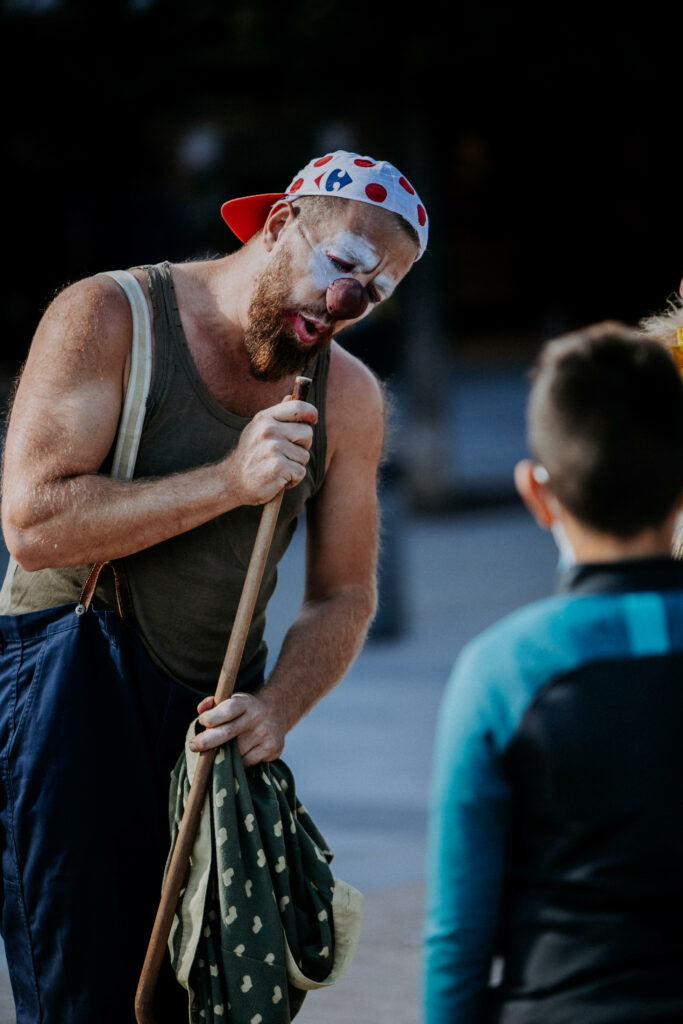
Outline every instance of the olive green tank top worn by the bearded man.
{"label": "olive green tank top worn by the bearded man", "polygon": [[[178,314],[171,267],[145,267],[154,313],[154,369],[134,476],[155,477],[218,462],[238,444],[249,419],[224,409],[204,384]],[[297,517],[323,483],[327,450],[326,397],[330,351],[306,375],[318,421],[306,475],[285,492],[261,590],[245,646],[238,686],[249,687],[265,666],[266,605],[278,563]],[[101,471],[105,471],[104,466]],[[199,690],[215,690],[261,518],[260,506],[225,512],[124,559],[137,628],[154,660]],[[89,566],[27,572],[10,558],[0,613],[20,614],[78,601]],[[116,608],[105,568],[95,592],[99,607]]]}

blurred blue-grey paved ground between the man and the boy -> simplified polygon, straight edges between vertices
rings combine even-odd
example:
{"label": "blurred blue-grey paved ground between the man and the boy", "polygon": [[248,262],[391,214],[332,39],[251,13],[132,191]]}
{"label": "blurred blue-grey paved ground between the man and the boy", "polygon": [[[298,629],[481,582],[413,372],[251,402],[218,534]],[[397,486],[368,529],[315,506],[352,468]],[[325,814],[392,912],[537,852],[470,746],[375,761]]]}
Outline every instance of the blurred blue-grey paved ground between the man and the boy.
{"label": "blurred blue-grey paved ground between the man and the boy", "polygon": [[[509,490],[524,454],[520,367],[474,368],[452,419],[463,489]],[[339,687],[292,732],[285,759],[335,851],[335,870],[365,896],[358,954],[347,976],[311,993],[301,1024],[417,1024],[424,836],[438,702],[462,645],[501,614],[548,592],[555,551],[516,504],[417,516],[395,496],[384,562],[387,607],[403,628],[371,640]],[[301,594],[295,537],[268,621],[279,648]],[[382,615],[380,616],[380,620]],[[391,618],[391,616],[389,616]],[[386,616],[385,616],[386,621]],[[0,1024],[13,1015],[0,967]]]}

